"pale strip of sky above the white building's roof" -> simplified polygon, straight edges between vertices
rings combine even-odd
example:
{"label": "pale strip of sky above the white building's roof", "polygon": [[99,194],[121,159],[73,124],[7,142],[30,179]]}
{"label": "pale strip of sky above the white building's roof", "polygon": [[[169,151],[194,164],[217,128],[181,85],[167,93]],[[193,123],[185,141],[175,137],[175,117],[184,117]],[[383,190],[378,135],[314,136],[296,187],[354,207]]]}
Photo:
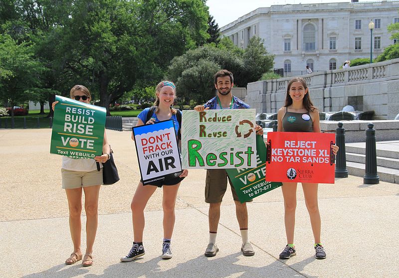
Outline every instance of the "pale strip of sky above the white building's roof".
{"label": "pale strip of sky above the white building's roof", "polygon": [[[337,3],[350,1],[351,0],[207,0],[206,5],[209,7],[209,13],[216,20],[216,23],[219,27],[222,27],[259,7],[299,3]],[[359,2],[366,2],[366,0],[359,0]]]}

